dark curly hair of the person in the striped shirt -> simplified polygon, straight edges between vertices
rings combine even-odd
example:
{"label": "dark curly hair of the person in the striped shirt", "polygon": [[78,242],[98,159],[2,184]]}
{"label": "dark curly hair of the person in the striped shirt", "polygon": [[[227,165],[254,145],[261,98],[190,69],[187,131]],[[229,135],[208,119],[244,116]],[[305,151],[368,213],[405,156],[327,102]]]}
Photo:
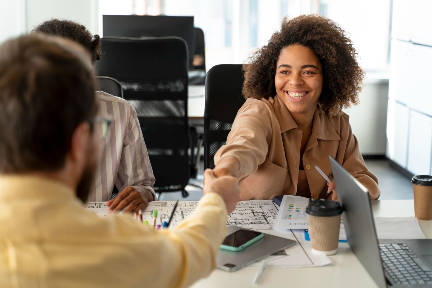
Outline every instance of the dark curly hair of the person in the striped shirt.
{"label": "dark curly hair of the person in the striped shirt", "polygon": [[83,45],[92,56],[92,63],[101,59],[102,44],[99,35],[92,35],[86,26],[70,20],[51,19],[33,27],[32,32],[60,36]]}

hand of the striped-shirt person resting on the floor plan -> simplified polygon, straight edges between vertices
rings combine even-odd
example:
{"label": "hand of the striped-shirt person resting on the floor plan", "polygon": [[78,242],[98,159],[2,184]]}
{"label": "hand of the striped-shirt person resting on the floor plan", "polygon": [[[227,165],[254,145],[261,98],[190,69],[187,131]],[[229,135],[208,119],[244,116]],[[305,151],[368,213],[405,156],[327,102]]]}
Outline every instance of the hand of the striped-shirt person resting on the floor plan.
{"label": "hand of the striped-shirt person resting on the floor plan", "polygon": [[123,209],[124,212],[137,213],[138,210],[146,208],[150,200],[150,195],[147,195],[146,199],[143,199],[140,192],[131,186],[127,186],[117,196],[107,202],[107,206],[109,207],[108,213],[121,212]]}

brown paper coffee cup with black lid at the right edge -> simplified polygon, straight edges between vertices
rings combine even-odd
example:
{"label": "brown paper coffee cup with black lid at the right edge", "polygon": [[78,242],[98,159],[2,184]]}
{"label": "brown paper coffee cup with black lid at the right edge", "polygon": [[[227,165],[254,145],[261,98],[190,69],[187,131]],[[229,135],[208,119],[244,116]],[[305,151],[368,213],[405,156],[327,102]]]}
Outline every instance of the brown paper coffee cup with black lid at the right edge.
{"label": "brown paper coffee cup with black lid at the right edge", "polygon": [[411,180],[414,190],[414,216],[432,220],[432,176],[416,175]]}

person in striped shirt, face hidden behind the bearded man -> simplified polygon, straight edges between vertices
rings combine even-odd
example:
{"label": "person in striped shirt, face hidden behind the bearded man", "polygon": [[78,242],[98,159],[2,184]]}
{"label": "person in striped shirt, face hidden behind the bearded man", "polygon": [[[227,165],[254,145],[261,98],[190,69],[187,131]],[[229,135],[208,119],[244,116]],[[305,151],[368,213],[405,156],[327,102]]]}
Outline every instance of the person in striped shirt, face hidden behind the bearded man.
{"label": "person in striped shirt, face hidden behind the bearded man", "polygon": [[[102,56],[99,35],[92,35],[79,23],[51,19],[33,28],[32,32],[60,36],[78,42],[92,57],[92,65]],[[137,112],[128,101],[97,91],[101,117],[113,120],[110,134],[101,144],[100,165],[95,171],[88,201],[107,201],[108,212],[138,212],[149,201],[156,200],[152,166],[138,122]],[[111,199],[117,187],[118,195]]]}

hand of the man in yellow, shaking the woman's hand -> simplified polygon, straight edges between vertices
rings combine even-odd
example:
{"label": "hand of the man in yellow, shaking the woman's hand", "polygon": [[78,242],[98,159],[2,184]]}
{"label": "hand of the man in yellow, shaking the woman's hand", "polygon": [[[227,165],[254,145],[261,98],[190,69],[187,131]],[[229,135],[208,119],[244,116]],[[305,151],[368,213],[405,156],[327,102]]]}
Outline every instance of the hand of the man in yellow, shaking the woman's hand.
{"label": "hand of the man in yellow, shaking the woman's hand", "polygon": [[240,201],[240,188],[238,179],[232,176],[221,176],[216,178],[211,169],[204,171],[204,195],[207,193],[219,194],[225,202],[228,213],[235,209],[235,205]]}

